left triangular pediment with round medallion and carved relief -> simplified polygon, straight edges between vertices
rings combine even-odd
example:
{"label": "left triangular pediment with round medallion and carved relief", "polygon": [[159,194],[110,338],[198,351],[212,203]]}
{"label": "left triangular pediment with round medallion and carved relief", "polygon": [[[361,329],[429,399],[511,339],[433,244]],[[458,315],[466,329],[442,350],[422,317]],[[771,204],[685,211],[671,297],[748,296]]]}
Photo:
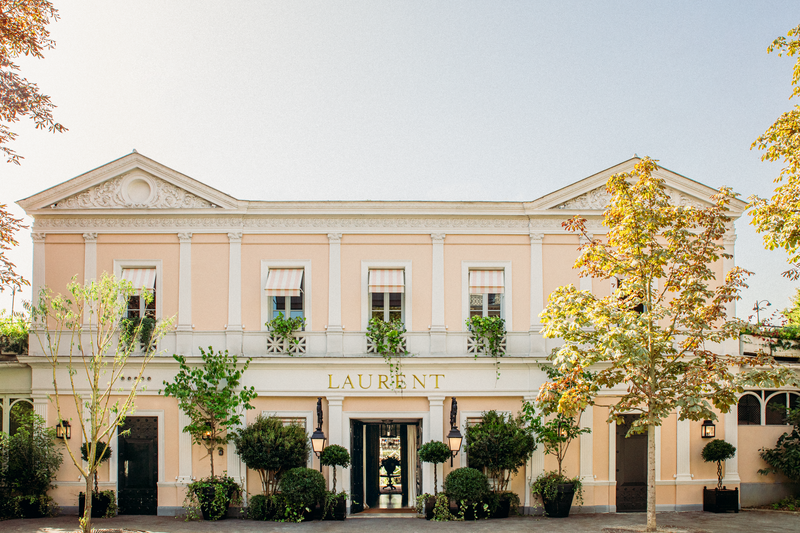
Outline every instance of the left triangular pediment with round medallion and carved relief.
{"label": "left triangular pediment with round medallion and carved relief", "polygon": [[236,209],[238,200],[137,152],[35,194],[26,212]]}

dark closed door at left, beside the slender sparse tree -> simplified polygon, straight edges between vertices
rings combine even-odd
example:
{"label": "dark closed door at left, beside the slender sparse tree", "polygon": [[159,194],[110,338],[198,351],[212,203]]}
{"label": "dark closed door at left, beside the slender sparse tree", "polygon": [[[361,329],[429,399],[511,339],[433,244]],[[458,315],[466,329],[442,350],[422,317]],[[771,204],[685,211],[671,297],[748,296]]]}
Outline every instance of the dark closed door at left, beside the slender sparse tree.
{"label": "dark closed door at left, beside the slender sparse tree", "polygon": [[158,417],[129,416],[119,427],[120,514],[158,513]]}

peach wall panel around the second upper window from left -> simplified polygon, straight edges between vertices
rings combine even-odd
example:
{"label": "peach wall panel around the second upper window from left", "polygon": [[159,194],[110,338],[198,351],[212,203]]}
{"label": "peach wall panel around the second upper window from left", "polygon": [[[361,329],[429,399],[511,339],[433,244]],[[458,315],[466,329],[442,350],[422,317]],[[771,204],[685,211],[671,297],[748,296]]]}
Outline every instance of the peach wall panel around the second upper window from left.
{"label": "peach wall panel around the second upper window from left", "polygon": [[325,235],[245,235],[242,238],[242,322],[247,330],[258,331],[262,325],[261,294],[264,287],[261,286],[261,261],[297,260],[311,261],[311,331],[325,331],[328,323],[329,254]]}

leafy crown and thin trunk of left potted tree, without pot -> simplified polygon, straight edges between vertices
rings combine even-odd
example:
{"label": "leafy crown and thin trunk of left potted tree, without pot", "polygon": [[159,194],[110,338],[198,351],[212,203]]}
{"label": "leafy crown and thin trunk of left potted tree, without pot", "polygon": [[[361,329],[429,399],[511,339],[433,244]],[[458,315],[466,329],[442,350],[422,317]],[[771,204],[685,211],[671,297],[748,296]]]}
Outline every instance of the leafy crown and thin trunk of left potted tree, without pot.
{"label": "leafy crown and thin trunk of left potted tree, without pot", "polygon": [[238,390],[250,359],[239,369],[236,355],[229,355],[228,350],[216,352],[209,346],[208,351],[200,348],[200,355],[201,366],[190,365],[183,355],[172,356],[180,368],[172,383],[164,381],[164,394],[176,398],[191,420],[183,431],[208,451],[213,478],[215,448],[231,440],[230,430],[242,423],[237,408],[253,409],[250,400],[258,395],[254,387]]}

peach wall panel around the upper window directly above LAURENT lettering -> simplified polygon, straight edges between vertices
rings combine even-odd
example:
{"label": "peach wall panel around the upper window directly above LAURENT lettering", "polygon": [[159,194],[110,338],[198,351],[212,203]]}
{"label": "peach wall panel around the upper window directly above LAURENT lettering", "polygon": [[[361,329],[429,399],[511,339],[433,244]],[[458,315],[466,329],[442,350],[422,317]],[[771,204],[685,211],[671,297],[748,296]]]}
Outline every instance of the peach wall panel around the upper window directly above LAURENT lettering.
{"label": "peach wall panel around the upper window directly above LAURENT lettering", "polygon": [[342,324],[347,330],[361,329],[361,261],[411,261],[414,323],[406,324],[406,329],[428,331],[431,323],[432,253],[428,235],[344,235]]}

